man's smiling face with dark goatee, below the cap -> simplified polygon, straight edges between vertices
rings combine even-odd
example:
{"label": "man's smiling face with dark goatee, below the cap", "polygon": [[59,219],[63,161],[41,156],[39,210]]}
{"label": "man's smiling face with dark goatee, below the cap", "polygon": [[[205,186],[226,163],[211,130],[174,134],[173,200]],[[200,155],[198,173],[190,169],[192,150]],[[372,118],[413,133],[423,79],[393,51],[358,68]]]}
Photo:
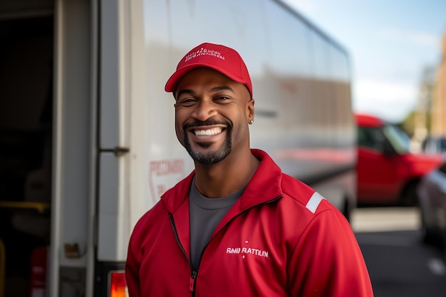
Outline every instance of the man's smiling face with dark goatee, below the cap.
{"label": "man's smiling face with dark goatee, below the cap", "polygon": [[245,85],[203,67],[186,73],[174,95],[177,138],[195,162],[212,165],[249,149],[254,100]]}

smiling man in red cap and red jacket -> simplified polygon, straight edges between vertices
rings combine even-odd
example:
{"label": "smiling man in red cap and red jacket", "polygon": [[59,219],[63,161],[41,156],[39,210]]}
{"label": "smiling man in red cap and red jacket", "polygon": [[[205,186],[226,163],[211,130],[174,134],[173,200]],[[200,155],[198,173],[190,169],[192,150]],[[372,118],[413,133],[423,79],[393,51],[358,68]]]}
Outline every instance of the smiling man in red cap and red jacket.
{"label": "smiling man in red cap and red jacket", "polygon": [[193,48],[165,90],[195,171],[135,226],[130,297],[373,296],[343,214],[250,149],[253,90],[237,51]]}

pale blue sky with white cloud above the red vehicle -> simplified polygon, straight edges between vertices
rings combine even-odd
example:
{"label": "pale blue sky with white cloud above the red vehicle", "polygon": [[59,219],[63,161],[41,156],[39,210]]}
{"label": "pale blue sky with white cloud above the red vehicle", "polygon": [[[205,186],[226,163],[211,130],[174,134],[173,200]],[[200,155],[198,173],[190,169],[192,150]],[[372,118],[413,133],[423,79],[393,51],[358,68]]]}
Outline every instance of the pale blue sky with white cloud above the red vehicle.
{"label": "pale blue sky with white cloud above the red vehicle", "polygon": [[353,110],[395,123],[414,110],[422,73],[438,66],[446,0],[283,0],[346,48]]}

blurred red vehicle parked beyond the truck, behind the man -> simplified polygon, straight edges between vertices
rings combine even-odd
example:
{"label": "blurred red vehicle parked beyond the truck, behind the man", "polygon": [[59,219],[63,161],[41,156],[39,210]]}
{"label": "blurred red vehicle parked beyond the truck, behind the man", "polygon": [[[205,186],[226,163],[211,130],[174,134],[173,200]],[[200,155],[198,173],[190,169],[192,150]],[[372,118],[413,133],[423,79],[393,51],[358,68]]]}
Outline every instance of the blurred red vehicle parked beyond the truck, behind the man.
{"label": "blurred red vehicle parked beyond the truck, behind the man", "polygon": [[440,166],[442,155],[414,154],[408,135],[372,115],[357,114],[358,204],[415,205],[420,178]]}

